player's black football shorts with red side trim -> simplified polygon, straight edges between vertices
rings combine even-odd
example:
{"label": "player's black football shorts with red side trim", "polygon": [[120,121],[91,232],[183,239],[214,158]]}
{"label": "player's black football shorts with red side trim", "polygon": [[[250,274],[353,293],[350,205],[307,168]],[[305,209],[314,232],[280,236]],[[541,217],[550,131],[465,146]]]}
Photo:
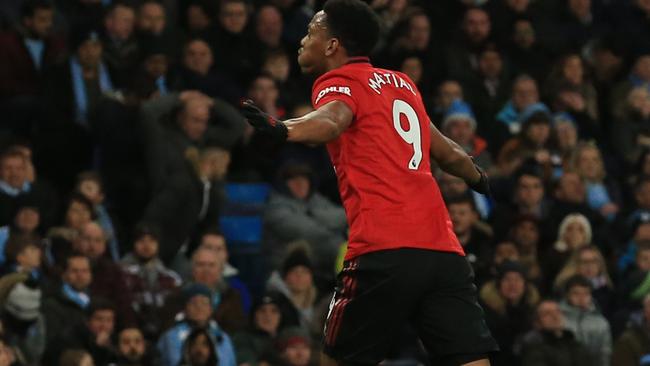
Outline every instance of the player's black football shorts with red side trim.
{"label": "player's black football shorts with red side trim", "polygon": [[344,263],[325,324],[324,352],[343,365],[376,365],[410,322],[436,365],[498,350],[465,257],[402,248]]}

